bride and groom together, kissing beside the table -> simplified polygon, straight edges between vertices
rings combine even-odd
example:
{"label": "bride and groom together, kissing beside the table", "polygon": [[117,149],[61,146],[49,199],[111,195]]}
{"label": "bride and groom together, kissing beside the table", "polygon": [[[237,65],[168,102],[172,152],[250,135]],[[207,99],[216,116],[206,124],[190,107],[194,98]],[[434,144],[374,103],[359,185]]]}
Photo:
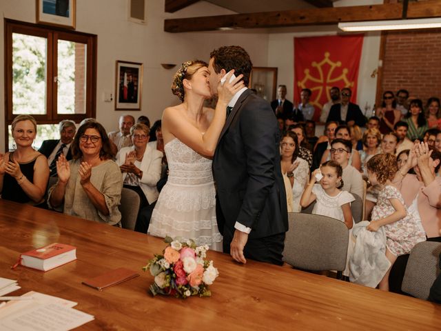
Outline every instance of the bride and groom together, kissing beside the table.
{"label": "bride and groom together, kissing beside the table", "polygon": [[[163,112],[170,172],[147,233],[195,239],[240,263],[281,265],[288,219],[280,133],[269,103],[246,87],[251,70],[243,48],[224,46],[208,64],[187,61],[174,75],[182,103]],[[203,107],[212,94],[215,110]]]}

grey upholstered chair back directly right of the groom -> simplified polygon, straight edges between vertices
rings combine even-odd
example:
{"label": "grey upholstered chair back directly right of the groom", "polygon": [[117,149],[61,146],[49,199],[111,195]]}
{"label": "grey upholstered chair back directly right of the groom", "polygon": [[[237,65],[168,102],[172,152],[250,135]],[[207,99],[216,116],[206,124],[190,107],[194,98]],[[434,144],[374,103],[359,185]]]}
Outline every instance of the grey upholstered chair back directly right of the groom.
{"label": "grey upholstered chair back directly right of the groom", "polygon": [[300,212],[288,213],[288,219],[283,261],[303,270],[337,270],[337,279],[342,279],[349,241],[345,223]]}

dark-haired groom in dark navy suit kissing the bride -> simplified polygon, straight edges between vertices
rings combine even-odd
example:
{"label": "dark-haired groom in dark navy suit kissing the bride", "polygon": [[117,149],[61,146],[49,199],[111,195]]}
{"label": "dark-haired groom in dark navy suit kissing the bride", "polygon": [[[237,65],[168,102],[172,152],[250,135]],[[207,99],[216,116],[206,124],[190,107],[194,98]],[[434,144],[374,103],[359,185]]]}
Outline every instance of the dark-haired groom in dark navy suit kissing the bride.
{"label": "dark-haired groom in dark navy suit kissing the bride", "polygon": [[[252,62],[239,46],[210,54],[209,83],[217,90],[229,70],[249,83]],[[248,88],[238,91],[214,152],[216,218],[223,250],[241,263],[245,258],[282,265],[288,230],[287,199],[280,170],[280,131],[267,101]]]}

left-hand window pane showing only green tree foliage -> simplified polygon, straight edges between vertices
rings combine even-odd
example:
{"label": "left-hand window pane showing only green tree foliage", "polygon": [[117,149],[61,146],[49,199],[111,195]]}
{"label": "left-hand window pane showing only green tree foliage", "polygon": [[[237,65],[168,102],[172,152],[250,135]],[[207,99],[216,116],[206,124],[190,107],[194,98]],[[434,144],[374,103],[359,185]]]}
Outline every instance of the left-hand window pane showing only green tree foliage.
{"label": "left-hand window pane showing only green tree foliage", "polygon": [[46,39],[12,33],[12,114],[46,113]]}

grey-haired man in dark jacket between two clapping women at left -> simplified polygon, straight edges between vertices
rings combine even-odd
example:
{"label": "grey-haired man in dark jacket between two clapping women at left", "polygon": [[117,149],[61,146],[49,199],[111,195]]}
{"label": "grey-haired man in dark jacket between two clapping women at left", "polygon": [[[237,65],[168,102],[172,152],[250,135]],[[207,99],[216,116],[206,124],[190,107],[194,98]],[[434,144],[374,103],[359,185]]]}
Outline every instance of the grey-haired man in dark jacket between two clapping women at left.
{"label": "grey-haired man in dark jacket between two clapping women at left", "polygon": [[57,159],[61,153],[69,161],[72,159],[70,144],[74,141],[76,126],[74,121],[63,119],[59,123],[60,139],[43,141],[39,152],[48,158],[50,177],[57,176]]}

